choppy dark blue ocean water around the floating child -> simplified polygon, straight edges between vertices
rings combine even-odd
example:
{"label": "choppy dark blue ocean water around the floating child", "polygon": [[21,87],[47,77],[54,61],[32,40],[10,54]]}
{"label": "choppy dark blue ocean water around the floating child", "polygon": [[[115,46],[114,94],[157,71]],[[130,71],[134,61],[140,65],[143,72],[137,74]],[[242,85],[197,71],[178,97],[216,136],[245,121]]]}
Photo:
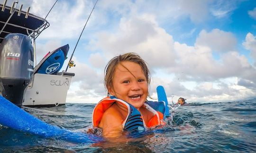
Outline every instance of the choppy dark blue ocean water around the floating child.
{"label": "choppy dark blue ocean water around the floating child", "polygon": [[[67,103],[23,109],[46,123],[72,131],[91,128],[95,104]],[[0,153],[251,153],[256,152],[256,99],[189,103],[174,112],[174,121],[127,143],[73,143],[43,138],[0,126]]]}

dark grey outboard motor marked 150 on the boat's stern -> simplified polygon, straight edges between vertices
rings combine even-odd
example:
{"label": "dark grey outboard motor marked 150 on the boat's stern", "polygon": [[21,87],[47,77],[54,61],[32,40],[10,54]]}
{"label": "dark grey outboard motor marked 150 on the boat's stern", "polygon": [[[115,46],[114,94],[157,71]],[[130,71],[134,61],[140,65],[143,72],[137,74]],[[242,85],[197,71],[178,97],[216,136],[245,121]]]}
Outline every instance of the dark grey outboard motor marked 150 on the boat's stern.
{"label": "dark grey outboard motor marked 150 on the boat's stern", "polygon": [[0,94],[17,106],[34,70],[34,49],[24,34],[8,34],[0,44]]}

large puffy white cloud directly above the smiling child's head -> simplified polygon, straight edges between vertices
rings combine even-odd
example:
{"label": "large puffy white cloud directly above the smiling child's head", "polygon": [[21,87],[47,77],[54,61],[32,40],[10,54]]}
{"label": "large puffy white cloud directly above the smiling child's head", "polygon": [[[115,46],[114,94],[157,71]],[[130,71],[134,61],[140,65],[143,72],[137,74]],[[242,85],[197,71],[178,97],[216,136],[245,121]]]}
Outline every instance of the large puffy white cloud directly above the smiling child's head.
{"label": "large puffy white cloud directly above the smiling child's head", "polygon": [[102,32],[95,45],[109,58],[122,52],[137,52],[151,67],[173,65],[172,36],[156,25],[154,17],[145,16],[123,18],[116,32]]}

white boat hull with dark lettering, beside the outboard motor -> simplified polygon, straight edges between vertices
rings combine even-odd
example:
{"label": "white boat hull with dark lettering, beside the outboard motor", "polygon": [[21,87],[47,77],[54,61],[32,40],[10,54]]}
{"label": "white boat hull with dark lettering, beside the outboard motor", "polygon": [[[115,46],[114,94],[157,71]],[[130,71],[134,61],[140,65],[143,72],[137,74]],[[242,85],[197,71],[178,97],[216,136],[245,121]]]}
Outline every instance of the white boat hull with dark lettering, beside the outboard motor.
{"label": "white boat hull with dark lettering, beside the outboard motor", "polygon": [[35,74],[23,95],[23,106],[62,105],[74,73]]}

